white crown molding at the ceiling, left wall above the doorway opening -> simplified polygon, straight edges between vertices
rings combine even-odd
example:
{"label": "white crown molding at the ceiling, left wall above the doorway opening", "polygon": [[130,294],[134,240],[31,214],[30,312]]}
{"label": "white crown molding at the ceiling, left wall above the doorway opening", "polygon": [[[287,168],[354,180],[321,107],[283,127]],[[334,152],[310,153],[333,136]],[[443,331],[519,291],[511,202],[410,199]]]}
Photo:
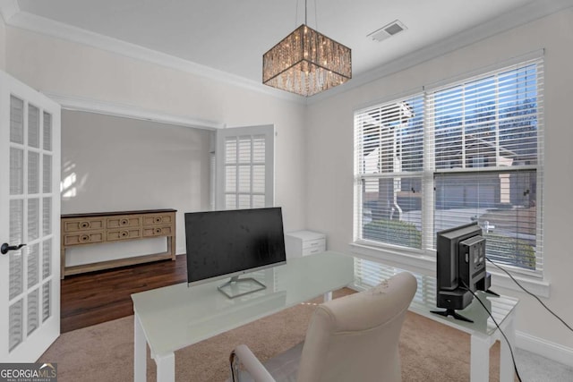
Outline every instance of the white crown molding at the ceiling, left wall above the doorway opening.
{"label": "white crown molding at the ceiling, left wall above the doorway opening", "polygon": [[[0,13],[4,15],[5,12],[10,15],[9,18],[4,17],[4,21],[10,27],[30,30],[54,38],[96,47],[117,55],[124,55],[142,62],[158,64],[170,69],[187,72],[202,78],[208,78],[213,81],[225,83],[227,85],[253,90],[275,98],[281,98],[286,101],[302,104],[305,103],[304,98],[301,98],[300,96],[270,88],[269,86],[263,85],[257,81],[252,81],[229,72],[223,72],[209,66],[196,64],[191,61],[184,60],[183,58],[175,57],[174,55],[167,55],[117,38],[110,38],[89,30],[82,30],[81,28],[64,24],[59,21],[50,20],[45,17],[40,17],[32,13],[21,12],[18,8],[17,1],[15,0],[0,1],[2,2],[0,3]],[[9,3],[6,4],[5,8],[4,2]]]}

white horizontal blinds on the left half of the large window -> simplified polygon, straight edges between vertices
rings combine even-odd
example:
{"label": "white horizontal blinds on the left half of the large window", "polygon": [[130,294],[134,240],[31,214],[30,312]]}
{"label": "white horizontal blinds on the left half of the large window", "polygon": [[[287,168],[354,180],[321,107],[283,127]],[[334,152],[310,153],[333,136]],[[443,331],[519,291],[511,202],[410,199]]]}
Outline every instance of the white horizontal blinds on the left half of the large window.
{"label": "white horizontal blinds on the left half of the large window", "polygon": [[420,249],[423,95],[355,114],[355,236]]}

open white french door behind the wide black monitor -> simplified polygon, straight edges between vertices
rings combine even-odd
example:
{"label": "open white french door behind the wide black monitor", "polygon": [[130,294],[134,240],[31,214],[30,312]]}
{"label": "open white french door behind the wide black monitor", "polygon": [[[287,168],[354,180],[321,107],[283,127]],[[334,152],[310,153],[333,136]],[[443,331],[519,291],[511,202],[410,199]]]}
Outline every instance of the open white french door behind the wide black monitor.
{"label": "open white french door behind the wide black monitor", "polygon": [[274,141],[272,125],[217,131],[217,209],[273,207]]}

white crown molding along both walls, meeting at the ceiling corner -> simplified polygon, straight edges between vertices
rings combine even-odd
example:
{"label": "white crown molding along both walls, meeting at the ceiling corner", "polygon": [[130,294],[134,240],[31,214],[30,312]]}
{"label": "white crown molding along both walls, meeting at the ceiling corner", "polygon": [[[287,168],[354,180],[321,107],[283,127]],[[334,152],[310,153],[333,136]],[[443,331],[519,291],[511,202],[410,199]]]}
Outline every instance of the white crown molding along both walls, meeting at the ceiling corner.
{"label": "white crown molding along both walls, meeting at the ceiling corner", "polygon": [[287,93],[286,91],[270,88],[257,81],[245,79],[244,77],[229,72],[219,71],[209,66],[192,63],[182,58],[167,55],[123,40],[109,38],[98,33],[81,30],[71,25],[39,17],[35,14],[21,12],[17,0],[0,0],[0,14],[2,14],[4,22],[14,28],[30,30],[47,36],[96,47],[118,55],[158,64],[182,72],[188,72],[199,77],[219,81],[242,89],[250,89],[297,104],[311,105],[572,6],[573,0],[532,0],[530,3],[515,11],[501,14],[491,21],[484,22],[475,28],[460,32],[451,38],[443,39],[431,46],[423,47],[387,64],[382,64],[370,72],[355,76],[352,81],[348,81],[336,88],[329,89],[310,98],[303,98],[295,94]]}

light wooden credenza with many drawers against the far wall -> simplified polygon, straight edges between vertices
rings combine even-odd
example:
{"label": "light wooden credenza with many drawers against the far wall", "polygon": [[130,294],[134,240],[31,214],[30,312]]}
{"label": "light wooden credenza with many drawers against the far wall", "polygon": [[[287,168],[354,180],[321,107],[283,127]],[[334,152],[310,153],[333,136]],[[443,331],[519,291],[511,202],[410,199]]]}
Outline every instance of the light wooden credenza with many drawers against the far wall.
{"label": "light wooden credenza with many drawers against the far wall", "polygon": [[[160,259],[175,260],[175,209],[97,212],[62,215],[61,276],[76,275],[112,267],[124,267]],[[103,242],[167,238],[167,251],[126,259],[97,261],[65,267],[65,250]]]}

